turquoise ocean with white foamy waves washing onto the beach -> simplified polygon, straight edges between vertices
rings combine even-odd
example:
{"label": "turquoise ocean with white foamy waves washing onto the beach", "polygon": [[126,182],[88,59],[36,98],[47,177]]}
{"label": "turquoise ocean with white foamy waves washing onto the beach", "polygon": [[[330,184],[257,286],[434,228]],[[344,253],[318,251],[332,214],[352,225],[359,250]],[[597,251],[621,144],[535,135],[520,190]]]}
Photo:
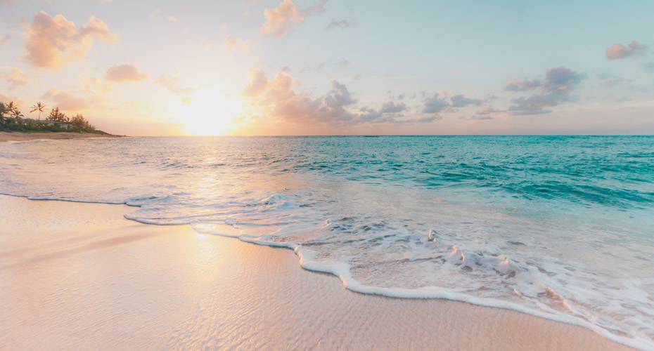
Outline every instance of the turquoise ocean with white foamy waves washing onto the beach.
{"label": "turquoise ocean with white foamy waves washing onto the beach", "polygon": [[127,204],[141,223],[293,249],[353,291],[511,308],[654,349],[650,136],[4,143],[0,194]]}

